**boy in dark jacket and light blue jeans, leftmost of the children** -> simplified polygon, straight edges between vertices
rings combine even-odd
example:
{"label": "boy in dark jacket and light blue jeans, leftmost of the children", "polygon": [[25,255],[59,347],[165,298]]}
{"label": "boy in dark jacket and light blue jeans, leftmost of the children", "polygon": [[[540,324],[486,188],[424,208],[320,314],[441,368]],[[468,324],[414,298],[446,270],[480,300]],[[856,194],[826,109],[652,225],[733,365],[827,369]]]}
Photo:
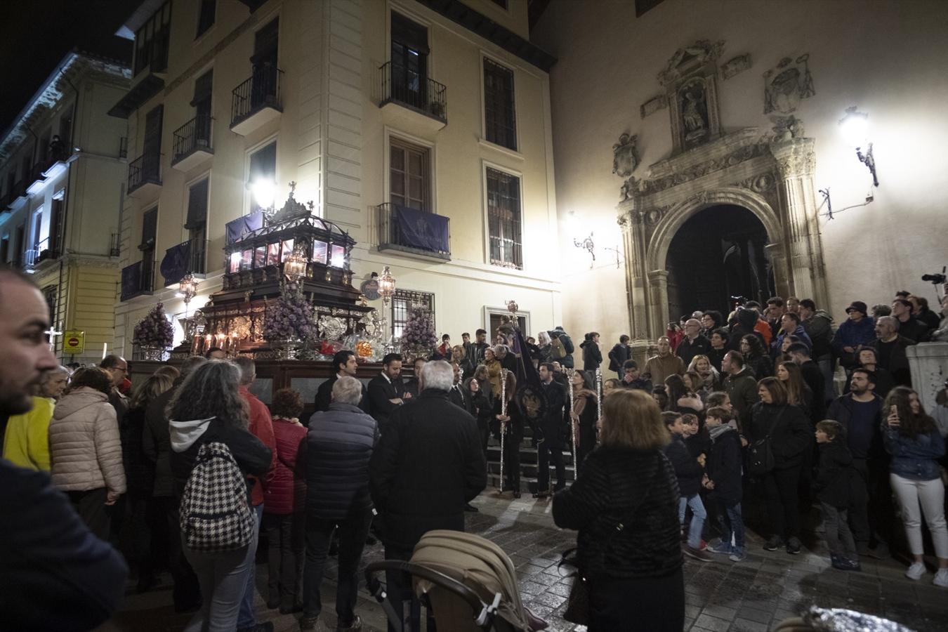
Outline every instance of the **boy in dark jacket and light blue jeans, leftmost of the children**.
{"label": "boy in dark jacket and light blue jeans, leftmost of the children", "polygon": [[688,539],[684,546],[684,554],[702,562],[710,562],[711,555],[702,551],[702,528],[707,513],[704,503],[698,492],[702,487],[704,474],[704,455],[692,457],[688,446],[684,443],[684,423],[682,415],[677,412],[663,412],[662,421],[671,433],[671,442],[665,447],[665,456],[675,468],[678,478],[678,489],[681,498],[678,505],[678,520],[684,529],[684,515],[691,508],[691,524],[688,527]]}

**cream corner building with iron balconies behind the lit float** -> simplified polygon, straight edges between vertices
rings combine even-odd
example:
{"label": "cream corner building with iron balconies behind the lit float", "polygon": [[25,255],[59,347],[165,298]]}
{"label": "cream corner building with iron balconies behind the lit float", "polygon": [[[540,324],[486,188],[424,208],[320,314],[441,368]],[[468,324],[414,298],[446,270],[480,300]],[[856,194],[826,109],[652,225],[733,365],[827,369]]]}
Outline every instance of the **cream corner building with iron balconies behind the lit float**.
{"label": "cream corner building with iron balconies behind the lit float", "polygon": [[527,331],[558,324],[555,60],[527,31],[525,0],[142,3],[124,27],[133,86],[111,108],[130,159],[117,349],[133,354],[157,300],[185,316],[225,269],[291,252],[224,257],[228,224],[259,226],[291,188],[356,240],[356,287],[390,267],[392,302],[367,297],[390,334],[411,305],[456,338],[508,300]]}

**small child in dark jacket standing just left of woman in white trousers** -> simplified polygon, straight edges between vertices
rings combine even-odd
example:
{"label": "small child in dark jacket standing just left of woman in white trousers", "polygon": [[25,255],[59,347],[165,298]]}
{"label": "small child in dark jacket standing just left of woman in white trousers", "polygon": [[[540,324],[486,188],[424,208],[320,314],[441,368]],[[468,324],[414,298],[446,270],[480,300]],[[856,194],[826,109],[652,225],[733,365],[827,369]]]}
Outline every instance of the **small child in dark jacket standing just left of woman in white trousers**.
{"label": "small child in dark jacket standing just left of woman in white trousers", "polygon": [[853,488],[863,485],[863,479],[852,467],[852,455],[844,434],[843,425],[839,422],[826,420],[816,424],[820,460],[813,479],[813,492],[823,512],[832,567],[861,570],[856,541],[849,531],[847,510],[853,502],[859,501],[855,497],[858,491]]}

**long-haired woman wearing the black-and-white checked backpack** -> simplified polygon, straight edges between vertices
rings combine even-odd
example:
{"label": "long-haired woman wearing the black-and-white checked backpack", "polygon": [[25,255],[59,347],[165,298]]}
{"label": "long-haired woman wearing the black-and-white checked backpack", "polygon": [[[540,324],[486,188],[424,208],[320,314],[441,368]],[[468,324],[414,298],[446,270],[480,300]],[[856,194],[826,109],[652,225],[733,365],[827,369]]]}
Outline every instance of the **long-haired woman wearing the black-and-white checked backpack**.
{"label": "long-haired woman wearing the black-and-white checked backpack", "polygon": [[[245,480],[248,474],[263,477],[269,470],[270,448],[247,429],[249,412],[238,390],[240,380],[241,371],[236,365],[211,360],[193,370],[174,392],[168,405],[168,418],[171,467],[178,497],[184,493],[198,452],[207,443],[227,445]],[[256,483],[247,480],[248,506],[253,484]],[[203,600],[185,627],[187,632],[229,632],[237,627],[240,601],[256,552],[256,537],[234,551],[192,551],[185,545],[185,557],[197,575]]]}

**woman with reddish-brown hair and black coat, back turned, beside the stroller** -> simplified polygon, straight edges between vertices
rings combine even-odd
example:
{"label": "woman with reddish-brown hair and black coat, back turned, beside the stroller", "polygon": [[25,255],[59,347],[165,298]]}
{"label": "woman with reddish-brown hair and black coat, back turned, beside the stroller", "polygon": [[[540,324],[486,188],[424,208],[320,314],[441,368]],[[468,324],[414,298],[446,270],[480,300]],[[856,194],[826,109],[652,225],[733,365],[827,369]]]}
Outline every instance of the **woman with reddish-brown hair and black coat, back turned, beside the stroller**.
{"label": "woman with reddish-brown hair and black coat, back turned, beside the stroller", "polygon": [[668,440],[646,392],[611,392],[603,403],[602,444],[573,486],[553,498],[556,526],[579,532],[590,632],[684,629],[678,482],[663,453]]}

